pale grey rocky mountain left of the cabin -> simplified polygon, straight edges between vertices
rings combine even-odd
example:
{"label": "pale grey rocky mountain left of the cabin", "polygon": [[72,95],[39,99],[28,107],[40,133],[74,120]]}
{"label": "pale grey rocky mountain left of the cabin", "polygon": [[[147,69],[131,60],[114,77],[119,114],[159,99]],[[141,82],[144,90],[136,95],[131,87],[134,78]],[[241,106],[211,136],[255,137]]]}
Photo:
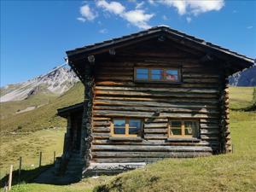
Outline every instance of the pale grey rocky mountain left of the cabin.
{"label": "pale grey rocky mountain left of the cabin", "polygon": [[0,102],[21,101],[38,93],[61,95],[79,78],[66,67],[55,67],[49,73],[23,83],[8,84],[0,89]]}

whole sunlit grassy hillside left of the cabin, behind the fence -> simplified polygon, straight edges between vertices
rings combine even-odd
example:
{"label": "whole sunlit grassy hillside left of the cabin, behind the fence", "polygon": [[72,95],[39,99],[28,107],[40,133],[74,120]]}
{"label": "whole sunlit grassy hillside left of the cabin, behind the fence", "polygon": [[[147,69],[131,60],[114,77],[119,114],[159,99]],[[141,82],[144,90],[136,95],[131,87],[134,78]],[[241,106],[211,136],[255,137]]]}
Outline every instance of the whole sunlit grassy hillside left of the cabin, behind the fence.
{"label": "whole sunlit grassy hillside left of the cabin, behind the fence", "polygon": [[[14,164],[17,169],[20,156],[23,158],[23,167],[33,169],[38,166],[40,151],[43,152],[44,164],[53,160],[54,151],[61,154],[67,121],[55,115],[56,109],[81,102],[83,96],[84,86],[78,83],[62,96],[48,97],[49,103],[41,108],[1,119],[0,178],[6,174],[10,164]],[[10,113],[14,108],[25,108],[27,103],[39,103],[38,99],[40,97],[37,96],[22,102],[6,102],[6,110],[1,107],[1,113]]]}

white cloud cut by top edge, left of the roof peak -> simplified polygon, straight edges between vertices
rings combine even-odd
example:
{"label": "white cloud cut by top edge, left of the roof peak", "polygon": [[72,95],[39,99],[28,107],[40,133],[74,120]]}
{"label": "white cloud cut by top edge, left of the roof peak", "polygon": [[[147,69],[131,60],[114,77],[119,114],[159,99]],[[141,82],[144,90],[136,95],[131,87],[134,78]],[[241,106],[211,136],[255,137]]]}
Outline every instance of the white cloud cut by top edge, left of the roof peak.
{"label": "white cloud cut by top edge, left of the roof peak", "polygon": [[106,0],[99,0],[96,2],[96,6],[115,15],[120,15],[125,11],[125,7],[119,2],[108,3]]}

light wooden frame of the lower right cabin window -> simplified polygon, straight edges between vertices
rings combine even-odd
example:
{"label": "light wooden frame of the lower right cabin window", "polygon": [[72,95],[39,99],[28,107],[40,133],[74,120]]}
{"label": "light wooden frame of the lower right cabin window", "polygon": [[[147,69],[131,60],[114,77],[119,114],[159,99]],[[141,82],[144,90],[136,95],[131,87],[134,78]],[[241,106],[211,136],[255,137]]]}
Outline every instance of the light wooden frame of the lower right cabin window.
{"label": "light wooden frame of the lower right cabin window", "polygon": [[[181,122],[181,131],[182,135],[172,135],[171,134],[171,122],[172,121],[180,121]],[[198,135],[193,137],[193,135],[185,135],[185,121],[193,121],[197,125]],[[168,137],[169,138],[198,138],[200,135],[200,124],[199,119],[169,119],[168,120]]]}

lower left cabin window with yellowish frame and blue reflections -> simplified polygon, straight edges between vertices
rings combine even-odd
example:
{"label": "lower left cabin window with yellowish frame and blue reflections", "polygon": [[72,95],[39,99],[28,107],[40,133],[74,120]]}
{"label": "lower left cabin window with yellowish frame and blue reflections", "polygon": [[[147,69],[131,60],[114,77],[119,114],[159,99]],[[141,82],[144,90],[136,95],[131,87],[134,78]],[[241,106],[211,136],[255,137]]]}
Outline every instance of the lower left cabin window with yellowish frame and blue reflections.
{"label": "lower left cabin window with yellowish frame and blue reflections", "polygon": [[142,120],[120,118],[113,119],[111,133],[113,137],[137,137],[141,136]]}

